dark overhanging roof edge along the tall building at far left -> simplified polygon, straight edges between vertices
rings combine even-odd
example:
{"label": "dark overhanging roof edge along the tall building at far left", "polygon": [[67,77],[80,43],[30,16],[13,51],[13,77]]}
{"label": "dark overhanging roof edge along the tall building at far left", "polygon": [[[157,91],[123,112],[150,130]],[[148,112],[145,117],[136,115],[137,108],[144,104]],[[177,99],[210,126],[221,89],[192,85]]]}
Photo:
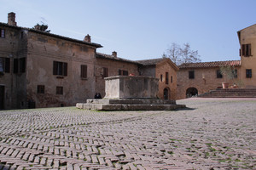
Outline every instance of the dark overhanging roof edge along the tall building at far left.
{"label": "dark overhanging roof edge along the tall building at far left", "polygon": [[77,40],[77,39],[73,39],[73,38],[70,38],[70,37],[63,37],[63,36],[59,36],[59,35],[56,35],[56,34],[45,32],[45,31],[38,31],[38,30],[35,30],[35,29],[32,29],[32,28],[26,28],[26,27],[21,27],[21,26],[9,26],[8,24],[5,24],[3,22],[0,22],[0,26],[14,28],[14,29],[18,29],[18,30],[25,29],[27,31],[32,31],[32,32],[35,32],[35,33],[38,33],[38,34],[43,34],[43,35],[49,36],[49,37],[56,37],[56,38],[60,38],[60,39],[71,41],[71,42],[83,43],[83,44],[90,45],[90,46],[93,46],[93,47],[96,47],[96,48],[102,48],[102,45],[98,44],[98,43],[84,42],[82,40]]}

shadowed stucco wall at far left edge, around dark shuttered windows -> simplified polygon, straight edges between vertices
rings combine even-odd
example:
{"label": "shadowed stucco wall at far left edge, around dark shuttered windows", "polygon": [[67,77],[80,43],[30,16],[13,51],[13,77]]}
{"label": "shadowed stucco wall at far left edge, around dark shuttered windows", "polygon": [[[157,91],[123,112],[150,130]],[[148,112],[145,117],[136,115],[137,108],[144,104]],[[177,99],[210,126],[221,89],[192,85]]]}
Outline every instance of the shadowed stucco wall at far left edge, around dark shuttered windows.
{"label": "shadowed stucco wall at far left edge, around dark shuttered windows", "polygon": [[26,58],[26,32],[22,29],[0,26],[5,37],[0,37],[0,57],[10,59],[10,72],[0,76],[4,87],[4,109],[26,108],[26,73],[14,73],[14,59]]}

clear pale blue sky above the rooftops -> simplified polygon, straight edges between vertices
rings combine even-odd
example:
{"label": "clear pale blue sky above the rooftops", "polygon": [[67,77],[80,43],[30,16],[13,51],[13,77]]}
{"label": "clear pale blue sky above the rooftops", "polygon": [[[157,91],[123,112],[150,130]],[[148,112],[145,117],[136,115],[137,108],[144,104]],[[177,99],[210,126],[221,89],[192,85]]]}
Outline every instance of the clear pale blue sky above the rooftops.
{"label": "clear pale blue sky above the rooftops", "polygon": [[202,61],[239,57],[237,31],[256,24],[256,0],[1,0],[0,22],[15,12],[18,26],[43,21],[51,33],[102,44],[125,59],[160,58],[189,42]]}

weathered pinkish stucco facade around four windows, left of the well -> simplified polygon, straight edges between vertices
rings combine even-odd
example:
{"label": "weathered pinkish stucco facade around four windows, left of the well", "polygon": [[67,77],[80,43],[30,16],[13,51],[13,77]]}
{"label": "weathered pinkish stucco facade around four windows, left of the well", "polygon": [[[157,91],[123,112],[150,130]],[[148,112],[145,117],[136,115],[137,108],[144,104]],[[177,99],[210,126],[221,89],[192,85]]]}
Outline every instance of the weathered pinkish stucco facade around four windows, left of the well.
{"label": "weathered pinkish stucco facade around four windows, left of the well", "polygon": [[[55,37],[30,32],[27,56],[27,95],[36,107],[67,106],[84,102],[95,94],[95,48]],[[53,61],[67,63],[67,77],[53,75]],[[81,65],[87,65],[87,78],[80,77]],[[37,93],[44,85],[44,94]],[[56,94],[56,87],[63,94]]]}

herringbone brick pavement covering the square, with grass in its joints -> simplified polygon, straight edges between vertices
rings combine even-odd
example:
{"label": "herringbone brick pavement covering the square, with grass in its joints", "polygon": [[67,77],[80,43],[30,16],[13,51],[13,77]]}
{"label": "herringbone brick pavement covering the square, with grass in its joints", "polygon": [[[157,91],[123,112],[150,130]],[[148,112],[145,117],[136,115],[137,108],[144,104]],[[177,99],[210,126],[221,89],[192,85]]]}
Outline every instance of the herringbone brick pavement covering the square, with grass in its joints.
{"label": "herringbone brick pavement covering the square, with grass in its joints", "polygon": [[0,111],[0,170],[256,169],[256,100],[179,111]]}

